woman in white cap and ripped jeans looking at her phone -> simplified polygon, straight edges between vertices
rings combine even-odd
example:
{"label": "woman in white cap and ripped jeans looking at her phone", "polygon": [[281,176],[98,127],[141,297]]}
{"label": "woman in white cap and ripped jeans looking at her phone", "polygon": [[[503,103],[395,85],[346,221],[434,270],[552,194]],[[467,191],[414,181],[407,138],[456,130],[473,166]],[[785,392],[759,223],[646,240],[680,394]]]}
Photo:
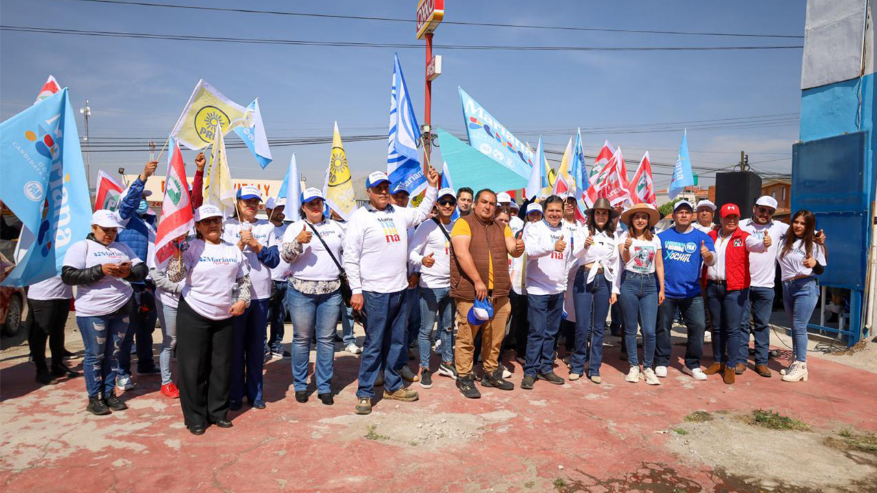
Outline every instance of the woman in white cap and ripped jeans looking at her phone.
{"label": "woman in white cap and ripped jeans looking at her phone", "polygon": [[76,290],[76,325],[85,344],[86,408],[95,415],[128,406],[116,397],[118,351],[128,329],[133,289],[130,282],[146,279],[149,269],[131,248],[116,241],[124,228],[116,212],[98,210],[91,233],[64,255],[61,279]]}

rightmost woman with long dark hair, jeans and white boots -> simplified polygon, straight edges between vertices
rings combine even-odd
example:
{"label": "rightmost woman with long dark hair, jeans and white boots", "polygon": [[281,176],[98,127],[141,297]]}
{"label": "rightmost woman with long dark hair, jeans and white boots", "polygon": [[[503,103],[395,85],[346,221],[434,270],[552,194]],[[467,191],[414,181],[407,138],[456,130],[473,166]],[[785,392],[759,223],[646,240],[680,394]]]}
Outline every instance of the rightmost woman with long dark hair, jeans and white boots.
{"label": "rightmost woman with long dark hair, jeans and white boots", "polygon": [[816,243],[816,216],[802,209],[792,216],[792,225],[780,239],[776,258],[780,263],[782,302],[792,325],[795,361],[781,371],[783,382],[807,382],[807,324],[819,299],[815,275],[828,265],[828,250]]}

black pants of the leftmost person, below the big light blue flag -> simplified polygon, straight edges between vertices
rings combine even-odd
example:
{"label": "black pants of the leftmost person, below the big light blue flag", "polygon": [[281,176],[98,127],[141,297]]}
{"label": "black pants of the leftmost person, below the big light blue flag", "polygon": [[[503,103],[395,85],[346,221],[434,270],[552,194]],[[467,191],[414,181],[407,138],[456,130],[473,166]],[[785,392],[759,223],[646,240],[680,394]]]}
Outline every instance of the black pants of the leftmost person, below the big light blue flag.
{"label": "black pants of the leftmost person, below the big light blue flag", "polygon": [[63,366],[64,325],[70,313],[70,300],[35,300],[27,298],[27,325],[30,326],[27,342],[31,349],[37,373],[48,373],[46,366],[46,339],[52,353],[52,367]]}

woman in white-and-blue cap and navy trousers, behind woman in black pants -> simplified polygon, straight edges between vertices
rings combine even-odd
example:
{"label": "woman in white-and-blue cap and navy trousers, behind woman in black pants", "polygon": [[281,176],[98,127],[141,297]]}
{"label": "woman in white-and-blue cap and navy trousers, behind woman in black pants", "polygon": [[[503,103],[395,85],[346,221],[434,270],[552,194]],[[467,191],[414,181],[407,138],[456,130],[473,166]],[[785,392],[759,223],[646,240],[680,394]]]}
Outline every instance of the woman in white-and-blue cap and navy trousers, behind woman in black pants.
{"label": "woman in white-and-blue cap and navy trousers, behind woman in black pants", "polygon": [[237,245],[250,266],[250,306],[234,319],[232,395],[237,411],[246,395],[250,405],[265,409],[262,400],[262,368],[265,364],[265,332],[271,304],[271,269],[280,264],[275,225],[257,219],[262,194],[252,185],[238,189],[235,218],[225,220],[223,239]]}

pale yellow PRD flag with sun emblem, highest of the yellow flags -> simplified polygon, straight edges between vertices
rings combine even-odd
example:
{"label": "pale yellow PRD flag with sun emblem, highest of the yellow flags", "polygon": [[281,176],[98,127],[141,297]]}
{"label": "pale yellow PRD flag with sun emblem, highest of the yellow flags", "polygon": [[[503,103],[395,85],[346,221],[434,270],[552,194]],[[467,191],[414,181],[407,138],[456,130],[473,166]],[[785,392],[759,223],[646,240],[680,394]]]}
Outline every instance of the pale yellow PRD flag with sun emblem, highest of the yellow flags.
{"label": "pale yellow PRD flag with sun emblem, highest of the yellow flags", "polygon": [[217,125],[225,132],[247,125],[250,113],[246,108],[222,95],[204,80],[198,81],[189,103],[182,109],[171,136],[183,146],[196,151],[209,146]]}

